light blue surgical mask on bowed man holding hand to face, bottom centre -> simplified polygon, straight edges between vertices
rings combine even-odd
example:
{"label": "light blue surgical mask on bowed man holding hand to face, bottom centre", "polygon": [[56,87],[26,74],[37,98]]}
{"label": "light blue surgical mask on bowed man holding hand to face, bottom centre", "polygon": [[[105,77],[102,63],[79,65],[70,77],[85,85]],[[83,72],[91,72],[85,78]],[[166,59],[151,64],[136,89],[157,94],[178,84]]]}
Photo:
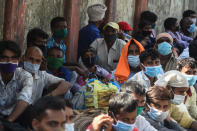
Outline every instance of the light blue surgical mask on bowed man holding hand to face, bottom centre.
{"label": "light blue surgical mask on bowed man holding hand to face, bottom centre", "polygon": [[[114,113],[112,113],[112,115],[114,116]],[[115,116],[114,116],[114,119],[116,121],[116,125],[112,124],[112,126],[116,131],[132,131],[135,127],[135,123],[127,124],[127,123],[121,122],[119,120],[117,121]]]}

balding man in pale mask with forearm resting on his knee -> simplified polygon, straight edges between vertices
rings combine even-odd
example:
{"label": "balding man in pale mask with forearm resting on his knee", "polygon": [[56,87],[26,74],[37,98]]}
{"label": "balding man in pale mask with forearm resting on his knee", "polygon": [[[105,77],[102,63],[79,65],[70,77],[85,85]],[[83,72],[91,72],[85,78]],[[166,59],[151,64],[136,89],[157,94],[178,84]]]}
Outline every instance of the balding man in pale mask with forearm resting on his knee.
{"label": "balding man in pale mask with forearm resting on his knee", "polygon": [[24,57],[24,69],[33,76],[33,94],[32,103],[42,97],[44,88],[46,89],[52,84],[58,84],[57,88],[47,95],[59,96],[65,94],[71,84],[62,78],[55,77],[46,71],[40,71],[39,67],[42,62],[42,51],[37,47],[30,47],[26,50]]}

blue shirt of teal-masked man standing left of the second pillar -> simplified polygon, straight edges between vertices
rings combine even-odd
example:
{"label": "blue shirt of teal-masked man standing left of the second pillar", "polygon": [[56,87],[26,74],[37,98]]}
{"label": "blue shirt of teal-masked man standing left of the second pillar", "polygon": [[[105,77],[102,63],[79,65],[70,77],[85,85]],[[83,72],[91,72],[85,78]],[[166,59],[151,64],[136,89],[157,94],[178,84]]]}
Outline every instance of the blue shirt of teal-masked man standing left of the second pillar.
{"label": "blue shirt of teal-masked man standing left of the second pillar", "polygon": [[64,53],[64,62],[66,62],[66,44],[64,43],[63,40],[60,41],[59,44],[57,44],[57,42],[55,41],[55,39],[53,37],[51,37],[50,39],[48,39],[47,41],[47,49],[50,49],[51,47],[59,47],[63,53]]}

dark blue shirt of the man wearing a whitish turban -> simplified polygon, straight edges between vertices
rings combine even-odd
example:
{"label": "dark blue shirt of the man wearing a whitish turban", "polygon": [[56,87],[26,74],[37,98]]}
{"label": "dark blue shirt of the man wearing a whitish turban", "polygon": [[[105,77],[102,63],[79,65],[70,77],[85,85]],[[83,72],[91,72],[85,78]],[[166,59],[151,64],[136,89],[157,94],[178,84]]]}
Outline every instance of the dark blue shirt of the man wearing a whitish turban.
{"label": "dark blue shirt of the man wearing a whitish turban", "polygon": [[78,58],[81,51],[90,46],[90,44],[97,38],[101,38],[99,29],[94,24],[88,24],[79,31],[78,41]]}

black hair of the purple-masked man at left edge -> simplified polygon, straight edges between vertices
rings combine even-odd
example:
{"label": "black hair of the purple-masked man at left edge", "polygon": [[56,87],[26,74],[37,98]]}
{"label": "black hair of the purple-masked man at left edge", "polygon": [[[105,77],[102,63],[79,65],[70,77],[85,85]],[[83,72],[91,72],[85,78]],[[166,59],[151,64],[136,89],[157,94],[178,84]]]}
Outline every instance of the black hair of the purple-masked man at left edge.
{"label": "black hair of the purple-masked man at left edge", "polygon": [[19,45],[11,40],[1,40],[0,41],[0,56],[5,50],[12,51],[17,58],[21,56],[21,49]]}

